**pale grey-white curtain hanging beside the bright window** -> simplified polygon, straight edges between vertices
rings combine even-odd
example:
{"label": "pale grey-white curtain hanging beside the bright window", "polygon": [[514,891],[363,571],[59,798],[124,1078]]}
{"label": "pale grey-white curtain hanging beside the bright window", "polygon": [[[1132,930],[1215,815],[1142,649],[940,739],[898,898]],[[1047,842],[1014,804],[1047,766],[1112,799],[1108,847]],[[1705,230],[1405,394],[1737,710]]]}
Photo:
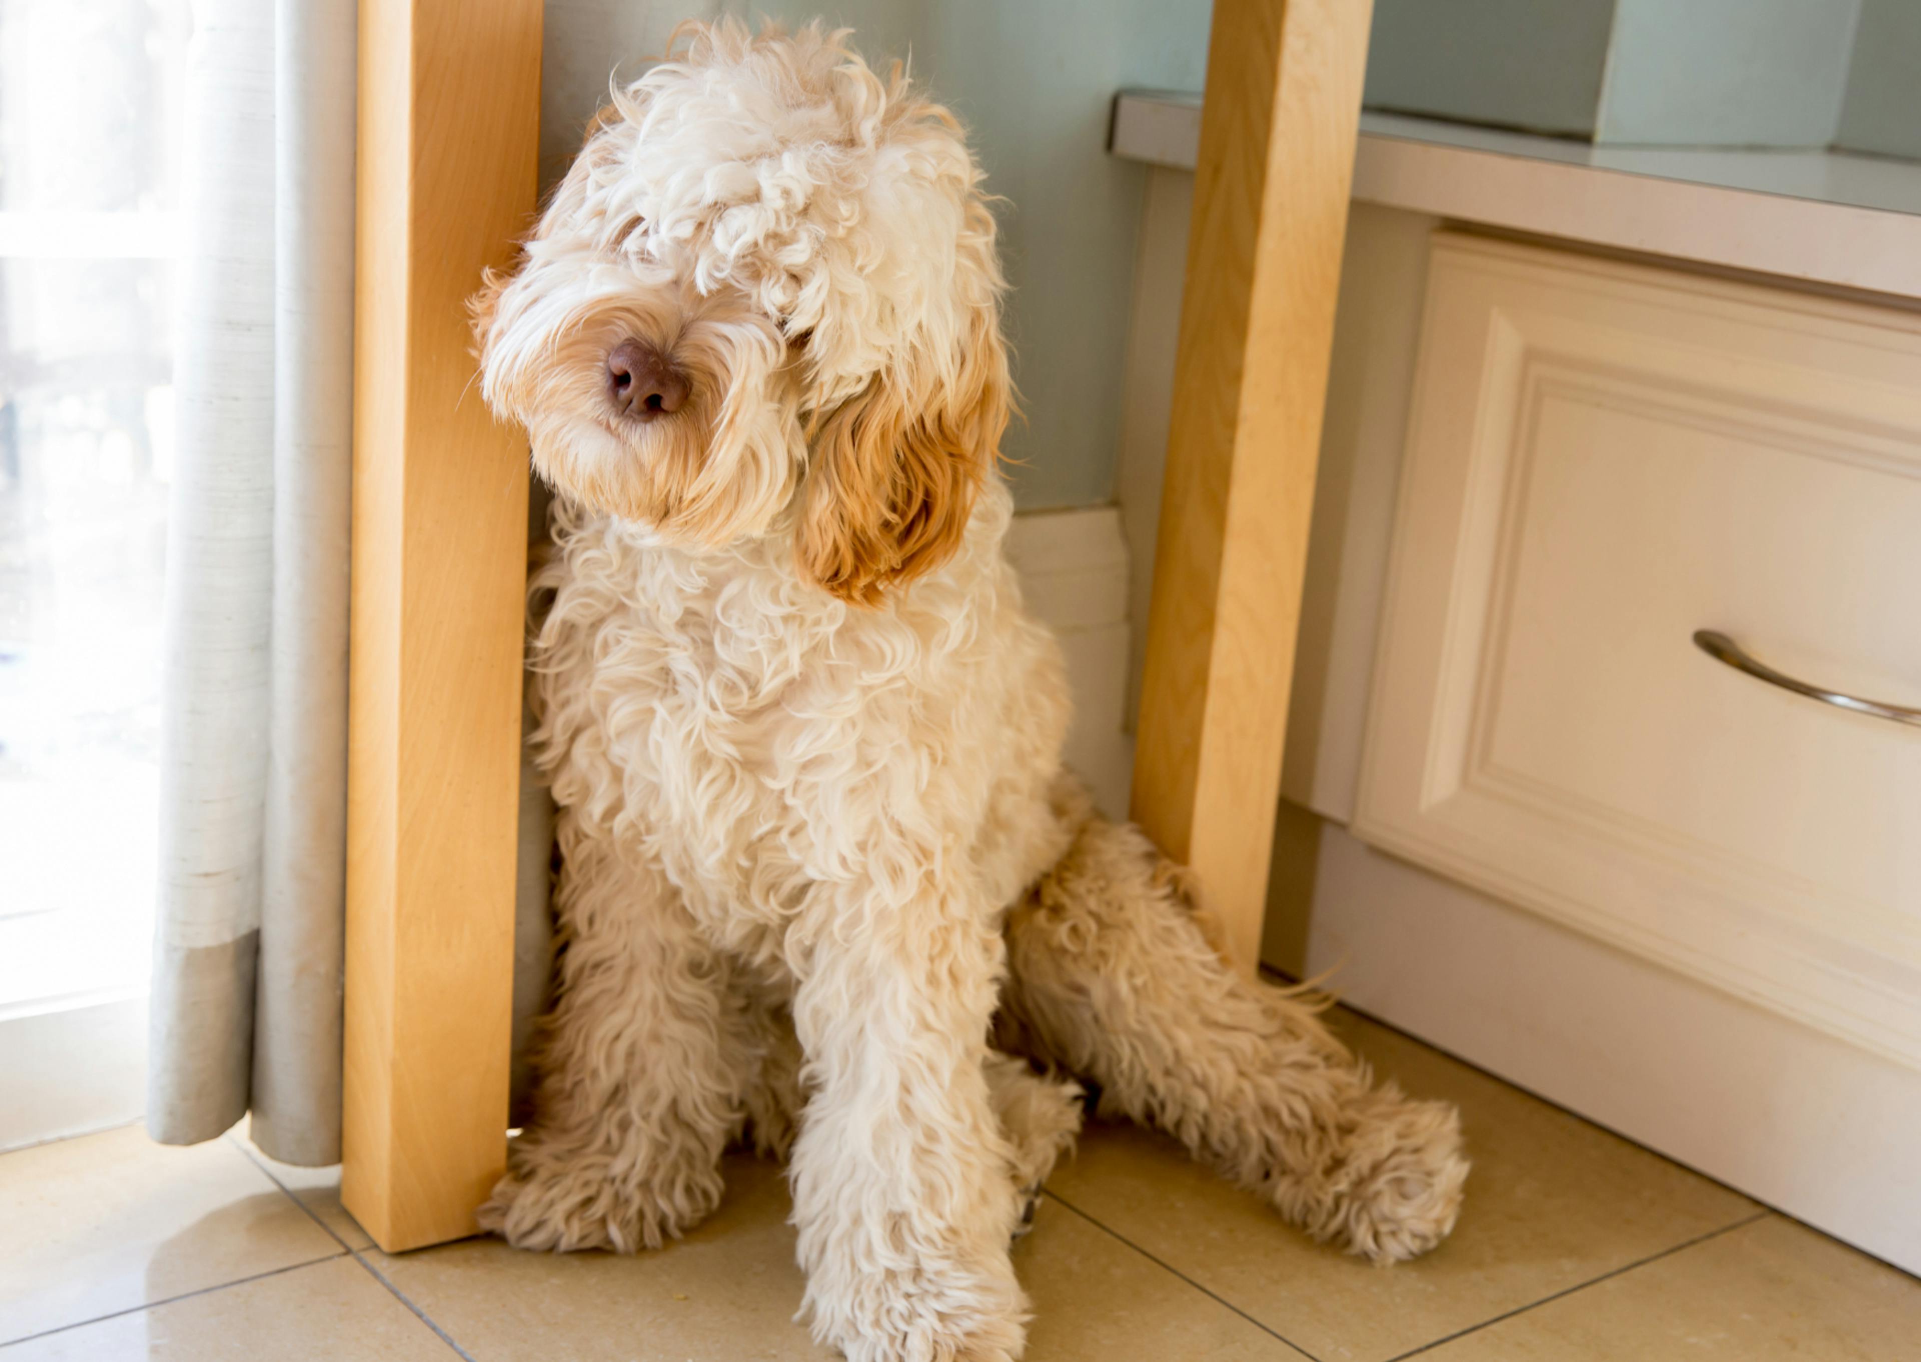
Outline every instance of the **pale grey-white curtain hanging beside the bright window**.
{"label": "pale grey-white curtain hanging beside the bright window", "polygon": [[353,0],[196,0],[148,1130],[340,1158]]}

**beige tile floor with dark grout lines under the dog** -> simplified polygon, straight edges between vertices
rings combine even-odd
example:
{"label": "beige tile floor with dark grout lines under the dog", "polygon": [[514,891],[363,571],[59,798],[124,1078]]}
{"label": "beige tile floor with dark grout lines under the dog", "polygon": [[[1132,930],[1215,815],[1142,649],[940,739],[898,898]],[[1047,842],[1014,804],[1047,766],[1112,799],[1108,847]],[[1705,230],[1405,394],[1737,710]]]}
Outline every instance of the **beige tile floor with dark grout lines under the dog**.
{"label": "beige tile floor with dark grout lines under the dog", "polygon": [[[1318,1249],[1164,1141],[1097,1126],[1014,1251],[1033,1362],[1921,1362],[1921,1281],[1395,1032],[1375,1068],[1460,1103],[1468,1208],[1431,1256]],[[382,1254],[332,1170],[240,1131],[138,1128],[0,1155],[0,1362],[826,1358],[780,1172],[728,1166],[665,1253]]]}

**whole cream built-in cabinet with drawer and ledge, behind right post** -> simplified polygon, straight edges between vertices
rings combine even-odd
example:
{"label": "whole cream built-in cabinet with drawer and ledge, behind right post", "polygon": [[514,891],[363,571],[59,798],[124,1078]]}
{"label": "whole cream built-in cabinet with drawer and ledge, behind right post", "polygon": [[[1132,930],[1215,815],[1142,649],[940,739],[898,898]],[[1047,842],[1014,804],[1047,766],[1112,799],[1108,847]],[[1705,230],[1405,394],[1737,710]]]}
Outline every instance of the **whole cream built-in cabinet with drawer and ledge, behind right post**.
{"label": "whole cream built-in cabinet with drawer and ledge, behind right post", "polygon": [[[1921,730],[1690,642],[1921,705],[1921,213],[1374,121],[1268,961],[1921,1272]],[[1153,171],[1130,340],[1143,603],[1185,194]]]}

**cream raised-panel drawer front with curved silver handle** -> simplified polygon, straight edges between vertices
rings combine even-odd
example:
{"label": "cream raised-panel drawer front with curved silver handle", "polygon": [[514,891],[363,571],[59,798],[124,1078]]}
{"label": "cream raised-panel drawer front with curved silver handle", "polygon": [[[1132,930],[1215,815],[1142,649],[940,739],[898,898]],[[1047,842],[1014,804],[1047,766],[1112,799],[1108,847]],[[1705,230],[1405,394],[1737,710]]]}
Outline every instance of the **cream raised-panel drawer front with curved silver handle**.
{"label": "cream raised-panel drawer front with curved silver handle", "polygon": [[1352,830],[1921,1066],[1921,315],[1437,234]]}

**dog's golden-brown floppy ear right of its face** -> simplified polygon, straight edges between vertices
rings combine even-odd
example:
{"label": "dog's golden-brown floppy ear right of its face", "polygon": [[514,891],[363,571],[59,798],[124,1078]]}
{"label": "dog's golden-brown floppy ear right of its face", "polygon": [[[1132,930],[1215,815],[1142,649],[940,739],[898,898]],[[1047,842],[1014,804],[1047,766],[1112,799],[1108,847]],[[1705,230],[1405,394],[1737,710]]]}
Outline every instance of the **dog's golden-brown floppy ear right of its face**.
{"label": "dog's golden-brown floppy ear right of its face", "polygon": [[[905,369],[905,371],[903,371]],[[970,309],[960,353],[876,375],[813,438],[795,553],[843,601],[930,572],[960,546],[1001,453],[1010,384],[999,307]]]}

